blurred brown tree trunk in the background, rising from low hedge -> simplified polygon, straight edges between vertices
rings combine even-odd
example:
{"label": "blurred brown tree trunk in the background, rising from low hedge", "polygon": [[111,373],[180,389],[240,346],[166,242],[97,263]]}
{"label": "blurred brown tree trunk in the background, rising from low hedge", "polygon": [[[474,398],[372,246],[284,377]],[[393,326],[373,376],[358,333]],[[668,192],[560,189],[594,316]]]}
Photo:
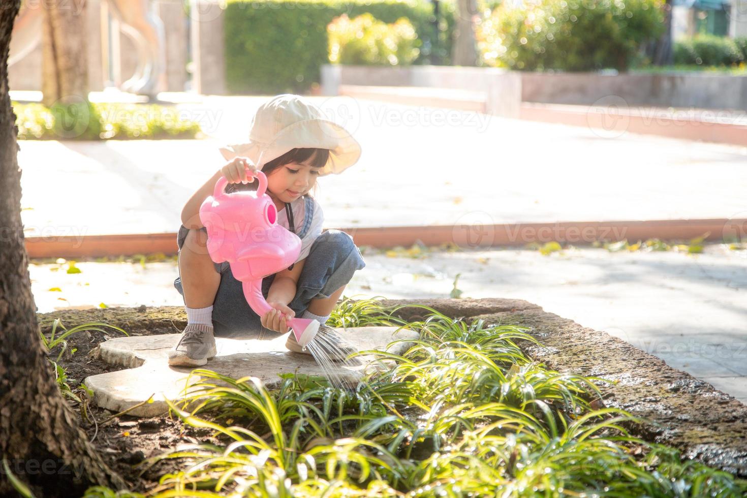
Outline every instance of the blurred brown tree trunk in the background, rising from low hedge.
{"label": "blurred brown tree trunk in the background, rising from low hedge", "polygon": [[42,34],[42,92],[48,108],[63,99],[88,100],[85,0],[45,0]]}

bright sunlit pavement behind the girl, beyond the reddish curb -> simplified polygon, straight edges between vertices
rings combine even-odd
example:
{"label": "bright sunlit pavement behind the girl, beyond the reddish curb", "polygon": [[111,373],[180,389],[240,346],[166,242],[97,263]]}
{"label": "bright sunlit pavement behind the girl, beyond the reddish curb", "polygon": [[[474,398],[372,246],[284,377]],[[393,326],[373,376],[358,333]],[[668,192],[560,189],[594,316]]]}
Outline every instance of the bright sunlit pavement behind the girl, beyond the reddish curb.
{"label": "bright sunlit pavement behind the girl, beyond the reddish curb", "polygon": [[[184,95],[180,95],[182,99]],[[267,97],[184,102],[205,140],[21,143],[28,236],[173,232],[192,193],[244,140]],[[325,225],[452,225],[747,217],[747,148],[311,98],[362,144],[320,178]]]}

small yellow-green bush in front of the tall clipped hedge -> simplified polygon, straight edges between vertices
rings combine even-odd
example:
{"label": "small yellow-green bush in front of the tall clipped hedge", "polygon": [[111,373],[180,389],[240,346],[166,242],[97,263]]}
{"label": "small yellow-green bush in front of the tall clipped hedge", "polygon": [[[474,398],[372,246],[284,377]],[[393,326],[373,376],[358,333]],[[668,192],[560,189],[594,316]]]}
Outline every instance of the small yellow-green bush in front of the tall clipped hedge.
{"label": "small yellow-green bush in front of the tall clipped hedge", "polygon": [[329,23],[327,36],[331,63],[406,65],[420,53],[415,47],[418,35],[406,17],[386,24],[370,13],[355,19],[343,14]]}

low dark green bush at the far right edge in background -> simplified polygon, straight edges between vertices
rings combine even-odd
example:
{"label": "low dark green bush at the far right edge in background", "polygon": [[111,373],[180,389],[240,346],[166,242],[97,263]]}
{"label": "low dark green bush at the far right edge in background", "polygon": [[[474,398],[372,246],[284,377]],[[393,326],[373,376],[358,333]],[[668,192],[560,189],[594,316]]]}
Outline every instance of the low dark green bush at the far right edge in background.
{"label": "low dark green bush at the far right edge in background", "polygon": [[699,34],[675,43],[675,64],[732,66],[747,57],[747,39],[733,40],[713,34]]}

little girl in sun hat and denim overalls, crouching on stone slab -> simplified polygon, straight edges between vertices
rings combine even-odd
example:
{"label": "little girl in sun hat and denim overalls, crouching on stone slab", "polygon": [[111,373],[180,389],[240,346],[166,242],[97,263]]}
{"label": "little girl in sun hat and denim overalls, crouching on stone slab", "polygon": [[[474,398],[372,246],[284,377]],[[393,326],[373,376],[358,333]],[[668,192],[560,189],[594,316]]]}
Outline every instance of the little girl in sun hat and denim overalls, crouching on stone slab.
{"label": "little girl in sun hat and denim overalls, crouching on stone slab", "polygon": [[[324,118],[301,96],[282,94],[261,105],[252,118],[249,142],[220,149],[226,161],[187,201],[179,228],[179,278],[174,287],[184,296],[187,326],[169,352],[169,364],[199,367],[216,355],[214,336],[264,338],[267,329],[288,332],[285,316],[326,323],[345,285],[365,267],[352,237],[344,231],[322,233],[323,213],[309,195],[317,176],[339,174],[361,155],[359,143],[340,125]],[[215,264],[206,249],[207,231],[199,207],[216,181],[229,181],[226,192],[256,190],[247,170],[267,175],[267,194],[277,222],[302,241],[297,261],[264,278],[262,293],[273,309],[259,317],[244,298],[241,281],[228,262]],[[294,334],[288,349],[302,352]],[[303,351],[305,352],[305,351]]]}

